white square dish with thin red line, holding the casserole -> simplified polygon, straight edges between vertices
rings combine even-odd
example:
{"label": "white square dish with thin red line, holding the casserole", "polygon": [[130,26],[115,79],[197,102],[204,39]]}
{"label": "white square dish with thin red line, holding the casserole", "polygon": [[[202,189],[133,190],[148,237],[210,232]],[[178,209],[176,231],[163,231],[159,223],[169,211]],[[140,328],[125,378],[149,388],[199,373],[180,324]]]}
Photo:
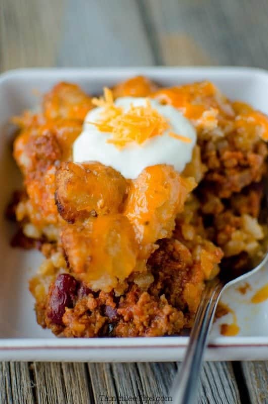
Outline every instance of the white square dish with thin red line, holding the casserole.
{"label": "white square dish with thin red line, holding the casserole", "polygon": [[[34,300],[28,280],[41,262],[36,251],[9,245],[12,225],[4,211],[21,178],[11,155],[8,120],[25,109],[34,108],[41,94],[58,81],[71,81],[88,93],[101,92],[131,76],[143,74],[162,85],[211,80],[232,99],[241,99],[268,114],[268,73],[248,68],[124,68],[124,69],[29,69],[0,76],[0,361],[175,361],[181,360],[187,337],[157,338],[56,338],[35,321]],[[249,278],[251,290],[242,295],[237,286],[222,297],[237,316],[240,333],[222,337],[219,324],[232,322],[230,314],[217,321],[210,337],[206,360],[268,359],[268,301],[258,305],[250,297],[268,283],[268,269]]]}

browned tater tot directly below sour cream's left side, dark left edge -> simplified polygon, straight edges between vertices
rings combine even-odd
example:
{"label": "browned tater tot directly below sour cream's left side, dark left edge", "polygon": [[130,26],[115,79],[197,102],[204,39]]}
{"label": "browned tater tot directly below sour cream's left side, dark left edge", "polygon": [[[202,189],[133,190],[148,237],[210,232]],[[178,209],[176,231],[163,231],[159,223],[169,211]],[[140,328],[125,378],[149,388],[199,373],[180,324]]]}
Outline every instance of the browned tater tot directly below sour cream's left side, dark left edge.
{"label": "browned tater tot directly below sour cream's left side, dark left edge", "polygon": [[56,174],[56,203],[68,222],[90,216],[118,213],[127,182],[120,173],[101,163],[63,163]]}

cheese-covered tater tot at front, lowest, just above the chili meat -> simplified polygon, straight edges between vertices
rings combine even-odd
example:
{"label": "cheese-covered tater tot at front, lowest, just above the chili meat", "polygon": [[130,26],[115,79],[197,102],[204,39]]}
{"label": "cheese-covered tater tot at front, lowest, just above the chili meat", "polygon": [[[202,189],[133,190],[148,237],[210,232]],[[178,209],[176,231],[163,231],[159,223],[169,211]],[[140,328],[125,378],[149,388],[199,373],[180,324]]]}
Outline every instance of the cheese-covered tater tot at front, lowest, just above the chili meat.
{"label": "cheese-covered tater tot at front, lowest, just above the chili meat", "polygon": [[94,290],[111,290],[136,267],[138,243],[123,215],[66,225],[61,239],[72,271]]}

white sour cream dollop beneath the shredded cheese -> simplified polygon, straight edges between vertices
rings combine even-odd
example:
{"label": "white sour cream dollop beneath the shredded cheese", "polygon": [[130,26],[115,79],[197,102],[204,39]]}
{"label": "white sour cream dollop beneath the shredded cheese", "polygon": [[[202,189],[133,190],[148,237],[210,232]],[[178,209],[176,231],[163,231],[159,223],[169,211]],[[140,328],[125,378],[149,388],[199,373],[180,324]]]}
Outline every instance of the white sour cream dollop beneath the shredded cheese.
{"label": "white sour cream dollop beneath the shredded cheese", "polygon": [[[125,178],[135,179],[144,168],[156,164],[173,165],[175,170],[182,172],[192,159],[193,148],[196,144],[196,131],[181,112],[169,105],[161,105],[157,100],[150,99],[152,108],[167,119],[169,128],[161,135],[151,137],[142,144],[133,142],[118,148],[113,143],[107,143],[111,133],[101,132],[97,126],[88,122],[98,122],[102,107],[88,112],[83,124],[83,131],[73,144],[73,161],[82,163],[98,161],[119,171]],[[120,97],[115,105],[128,111],[134,107],[146,106],[146,98]],[[189,138],[190,142],[171,137],[173,132]]]}

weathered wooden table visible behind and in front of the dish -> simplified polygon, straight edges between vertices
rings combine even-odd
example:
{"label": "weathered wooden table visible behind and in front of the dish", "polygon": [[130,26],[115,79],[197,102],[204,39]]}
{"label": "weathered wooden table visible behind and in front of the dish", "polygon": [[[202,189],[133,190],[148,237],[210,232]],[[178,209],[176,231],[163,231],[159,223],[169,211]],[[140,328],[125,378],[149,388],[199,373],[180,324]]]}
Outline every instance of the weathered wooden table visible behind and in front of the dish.
{"label": "weathered wooden table visible behind and in front of the dish", "polygon": [[[267,0],[0,0],[0,71],[44,66],[268,67]],[[2,363],[1,403],[164,396],[180,364]],[[200,403],[268,403],[268,363],[206,363]],[[138,399],[136,402],[141,402]]]}

